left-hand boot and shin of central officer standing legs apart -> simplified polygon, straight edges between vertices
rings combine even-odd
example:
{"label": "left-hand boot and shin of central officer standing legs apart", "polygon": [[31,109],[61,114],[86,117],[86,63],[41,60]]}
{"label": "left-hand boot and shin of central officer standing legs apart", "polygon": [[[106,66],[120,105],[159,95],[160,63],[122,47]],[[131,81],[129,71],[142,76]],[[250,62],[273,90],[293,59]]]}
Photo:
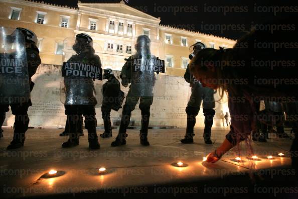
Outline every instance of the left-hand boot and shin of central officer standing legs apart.
{"label": "left-hand boot and shin of central officer standing legs apart", "polygon": [[121,118],[121,124],[119,128],[119,133],[116,137],[116,140],[111,143],[112,147],[116,146],[121,146],[126,144],[126,129],[129,125],[130,122],[130,116],[131,116],[131,111],[128,106],[124,105],[123,106],[123,111],[122,111],[122,118]]}

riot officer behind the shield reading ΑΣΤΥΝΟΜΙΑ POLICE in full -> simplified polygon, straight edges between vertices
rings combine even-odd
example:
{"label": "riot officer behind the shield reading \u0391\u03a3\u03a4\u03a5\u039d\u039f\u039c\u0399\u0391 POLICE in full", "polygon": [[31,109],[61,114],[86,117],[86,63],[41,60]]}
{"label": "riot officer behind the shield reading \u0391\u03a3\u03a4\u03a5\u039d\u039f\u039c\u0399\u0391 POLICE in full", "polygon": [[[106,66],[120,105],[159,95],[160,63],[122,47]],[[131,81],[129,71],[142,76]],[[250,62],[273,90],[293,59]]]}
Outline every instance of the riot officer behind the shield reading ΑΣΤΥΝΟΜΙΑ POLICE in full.
{"label": "riot officer behind the shield reading \u0391\u03a3\u03a4\u03a5\u039d\u039f\u039c\u0399\u0391 POLICE in full", "polygon": [[[93,49],[93,40],[88,34],[78,34],[73,45],[76,55],[67,62],[94,65],[101,70],[101,61]],[[65,114],[69,123],[69,139],[62,144],[63,148],[79,145],[78,126],[80,116],[85,117],[85,128],[88,131],[90,149],[99,149],[100,144],[96,134],[95,105],[97,104],[94,80],[86,76],[65,76]]]}

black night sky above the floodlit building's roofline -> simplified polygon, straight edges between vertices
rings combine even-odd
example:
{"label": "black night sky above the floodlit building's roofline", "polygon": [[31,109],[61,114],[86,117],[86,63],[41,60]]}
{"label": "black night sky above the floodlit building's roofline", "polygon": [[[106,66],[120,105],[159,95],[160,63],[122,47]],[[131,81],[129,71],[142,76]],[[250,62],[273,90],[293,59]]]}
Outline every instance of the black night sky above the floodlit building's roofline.
{"label": "black night sky above the floodlit building's roofline", "polygon": [[[77,6],[76,0],[43,0],[59,5]],[[154,17],[161,24],[238,39],[260,24],[298,13],[297,1],[262,0],[128,0],[128,6]],[[81,0],[82,3],[118,3],[120,0]],[[259,9],[256,12],[256,8]],[[289,9],[289,10],[286,10]],[[225,10],[225,11],[223,11]],[[276,13],[274,14],[274,10]]]}

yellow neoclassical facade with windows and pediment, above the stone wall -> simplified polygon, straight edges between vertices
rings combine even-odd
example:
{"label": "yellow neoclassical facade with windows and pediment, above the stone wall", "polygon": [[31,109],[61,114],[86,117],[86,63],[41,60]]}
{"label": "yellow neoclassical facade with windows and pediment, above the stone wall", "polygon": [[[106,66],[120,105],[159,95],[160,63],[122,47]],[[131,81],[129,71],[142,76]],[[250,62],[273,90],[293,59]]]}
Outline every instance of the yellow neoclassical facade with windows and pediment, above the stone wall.
{"label": "yellow neoclassical facade with windows and pediment, above the stone wall", "polygon": [[[197,41],[206,47],[231,48],[235,40],[161,25],[161,19],[127,6],[78,3],[69,8],[37,1],[0,0],[0,25],[24,27],[34,31],[44,64],[61,65],[63,42],[79,33],[89,34],[101,46],[103,68],[121,70],[124,58],[133,51],[137,35],[146,34],[163,48],[159,56],[166,61],[166,74],[183,76],[189,62],[189,46]],[[155,53],[155,52],[153,52]]]}

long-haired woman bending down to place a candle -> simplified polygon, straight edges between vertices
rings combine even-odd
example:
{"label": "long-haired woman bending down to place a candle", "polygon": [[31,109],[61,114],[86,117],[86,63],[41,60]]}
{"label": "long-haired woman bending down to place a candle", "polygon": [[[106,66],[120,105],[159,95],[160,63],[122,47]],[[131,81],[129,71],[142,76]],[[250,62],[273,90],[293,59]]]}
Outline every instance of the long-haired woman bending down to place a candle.
{"label": "long-haired woman bending down to place a candle", "polygon": [[[208,162],[218,161],[231,148],[241,141],[248,140],[248,136],[256,126],[256,116],[261,100],[277,101],[289,105],[298,101],[297,50],[286,47],[278,49],[261,47],[266,43],[297,41],[296,35],[296,30],[277,31],[274,34],[266,31],[252,31],[240,39],[232,49],[207,48],[197,53],[192,59],[190,70],[203,86],[218,89],[221,96],[225,92],[228,95],[231,115],[230,132],[221,146],[208,155]],[[296,107],[297,110],[293,108],[292,113],[288,114],[297,115],[298,106],[292,107]],[[293,120],[291,124],[295,139],[290,152],[292,164],[297,167],[297,120]]]}

